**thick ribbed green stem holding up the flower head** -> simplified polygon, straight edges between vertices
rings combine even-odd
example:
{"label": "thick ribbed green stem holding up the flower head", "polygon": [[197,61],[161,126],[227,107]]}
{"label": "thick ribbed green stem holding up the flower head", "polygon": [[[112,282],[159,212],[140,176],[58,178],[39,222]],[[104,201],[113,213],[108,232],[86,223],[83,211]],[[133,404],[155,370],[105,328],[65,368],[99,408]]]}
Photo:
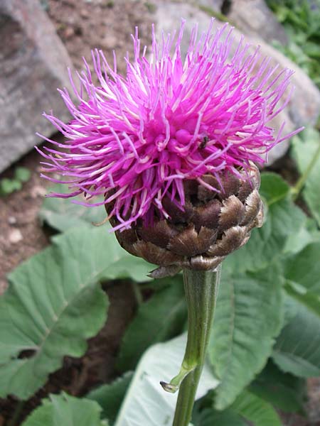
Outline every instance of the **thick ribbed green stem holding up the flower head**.
{"label": "thick ribbed green stem holding up the flower head", "polygon": [[170,383],[161,383],[166,391],[179,388],[173,426],[188,426],[198,383],[206,359],[218,295],[221,267],[215,271],[183,271],[188,305],[188,340],[181,371]]}

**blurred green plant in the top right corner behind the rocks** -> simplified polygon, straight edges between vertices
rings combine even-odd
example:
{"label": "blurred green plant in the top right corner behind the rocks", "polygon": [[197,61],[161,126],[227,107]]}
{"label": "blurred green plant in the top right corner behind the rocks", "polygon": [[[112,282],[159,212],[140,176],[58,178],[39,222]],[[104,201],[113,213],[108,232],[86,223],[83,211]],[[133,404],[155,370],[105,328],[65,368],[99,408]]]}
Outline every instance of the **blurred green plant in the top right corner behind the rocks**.
{"label": "blurred green plant in the top right corner behind the rocks", "polygon": [[320,87],[320,1],[267,0],[287,31],[286,46],[274,43]]}

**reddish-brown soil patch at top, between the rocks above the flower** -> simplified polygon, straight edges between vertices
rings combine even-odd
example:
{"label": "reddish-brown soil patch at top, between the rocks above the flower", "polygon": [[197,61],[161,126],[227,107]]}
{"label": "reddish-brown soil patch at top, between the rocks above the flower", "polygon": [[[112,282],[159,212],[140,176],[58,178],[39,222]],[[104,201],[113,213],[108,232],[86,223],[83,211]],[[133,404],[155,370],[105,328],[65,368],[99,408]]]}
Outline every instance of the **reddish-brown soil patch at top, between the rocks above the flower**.
{"label": "reddish-brown soil patch at top, between the rocks above the flower", "polygon": [[83,69],[91,50],[102,49],[112,63],[117,52],[117,69],[125,73],[124,57],[132,51],[132,37],[139,26],[142,48],[149,45],[154,4],[149,1],[126,0],[48,0],[48,14],[58,35],[65,43],[76,70]]}

